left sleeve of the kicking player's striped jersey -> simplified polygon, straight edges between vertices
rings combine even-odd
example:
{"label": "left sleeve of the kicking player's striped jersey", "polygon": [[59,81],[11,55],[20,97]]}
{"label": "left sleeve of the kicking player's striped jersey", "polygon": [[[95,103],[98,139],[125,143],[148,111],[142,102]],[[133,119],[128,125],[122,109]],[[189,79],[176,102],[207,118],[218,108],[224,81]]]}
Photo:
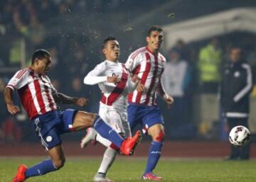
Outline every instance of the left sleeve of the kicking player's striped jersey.
{"label": "left sleeve of the kicking player's striped jersey", "polygon": [[21,69],[21,70],[19,70],[11,78],[11,80],[7,84],[6,88],[10,88],[13,91],[21,89],[23,86],[28,84],[28,76],[29,76],[28,69]]}

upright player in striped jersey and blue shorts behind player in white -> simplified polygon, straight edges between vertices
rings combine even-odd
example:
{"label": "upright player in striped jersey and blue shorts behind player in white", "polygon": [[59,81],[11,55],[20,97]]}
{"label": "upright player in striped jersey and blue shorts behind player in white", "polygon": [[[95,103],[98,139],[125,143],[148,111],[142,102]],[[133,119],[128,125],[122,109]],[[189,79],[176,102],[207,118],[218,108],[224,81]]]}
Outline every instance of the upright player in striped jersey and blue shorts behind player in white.
{"label": "upright player in striped jersey and blue shorts behind player in white", "polygon": [[163,38],[163,30],[159,26],[152,26],[146,36],[147,46],[132,52],[125,63],[127,69],[137,74],[144,85],[142,90],[137,89],[128,96],[128,122],[131,130],[141,124],[144,126],[143,132],[152,138],[143,180],[162,180],[152,172],[159,161],[164,140],[164,119],[156,105],[156,95],[164,98],[168,106],[174,102],[161,84],[166,64],[166,58],[159,52]]}

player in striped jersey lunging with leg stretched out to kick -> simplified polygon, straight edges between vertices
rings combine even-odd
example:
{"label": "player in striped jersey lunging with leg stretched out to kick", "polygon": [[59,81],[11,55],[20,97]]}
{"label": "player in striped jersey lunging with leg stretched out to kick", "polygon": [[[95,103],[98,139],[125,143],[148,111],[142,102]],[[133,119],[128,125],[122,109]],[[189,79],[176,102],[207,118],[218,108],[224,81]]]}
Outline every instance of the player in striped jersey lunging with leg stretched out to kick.
{"label": "player in striped jersey lunging with leg stretched out to kick", "polygon": [[36,50],[32,56],[31,67],[16,72],[4,92],[7,110],[12,115],[16,115],[20,108],[14,105],[12,96],[14,90],[18,91],[33,129],[50,157],[29,168],[23,164],[18,166],[13,182],[23,182],[29,177],[41,176],[60,169],[65,163],[60,135],[65,132],[93,126],[102,137],[112,141],[126,155],[131,154],[139,142],[138,134],[131,139],[124,140],[97,114],[73,109],[58,110],[56,103],[85,106],[87,99],[73,98],[58,93],[46,76],[50,65],[50,53],[47,50]]}

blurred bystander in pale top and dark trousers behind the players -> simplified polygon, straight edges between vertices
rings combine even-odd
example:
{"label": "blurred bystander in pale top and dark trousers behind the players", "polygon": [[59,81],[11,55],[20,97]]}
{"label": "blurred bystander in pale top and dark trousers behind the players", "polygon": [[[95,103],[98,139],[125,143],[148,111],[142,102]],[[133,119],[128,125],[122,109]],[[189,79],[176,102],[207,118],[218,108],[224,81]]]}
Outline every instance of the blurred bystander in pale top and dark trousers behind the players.
{"label": "blurred bystander in pale top and dark trousers behind the players", "polygon": [[[166,92],[174,97],[174,105],[168,110],[167,118],[170,120],[174,132],[169,132],[176,137],[192,135],[188,129],[191,123],[191,95],[187,93],[191,82],[191,69],[186,60],[181,59],[180,52],[176,49],[169,53],[169,62],[164,69],[163,84]],[[166,123],[166,125],[168,125]]]}

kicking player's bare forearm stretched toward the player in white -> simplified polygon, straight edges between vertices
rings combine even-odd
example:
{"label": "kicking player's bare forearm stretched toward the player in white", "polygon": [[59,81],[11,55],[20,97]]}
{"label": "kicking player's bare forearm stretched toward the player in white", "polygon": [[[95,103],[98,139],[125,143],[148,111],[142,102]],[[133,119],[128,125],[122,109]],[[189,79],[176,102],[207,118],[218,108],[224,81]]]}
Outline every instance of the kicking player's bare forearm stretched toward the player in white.
{"label": "kicking player's bare forearm stretched toward the player in white", "polygon": [[76,97],[70,97],[66,96],[63,93],[56,93],[54,95],[54,99],[56,103],[64,103],[64,104],[75,104],[80,107],[85,107],[89,99],[81,97],[81,98],[76,98]]}

